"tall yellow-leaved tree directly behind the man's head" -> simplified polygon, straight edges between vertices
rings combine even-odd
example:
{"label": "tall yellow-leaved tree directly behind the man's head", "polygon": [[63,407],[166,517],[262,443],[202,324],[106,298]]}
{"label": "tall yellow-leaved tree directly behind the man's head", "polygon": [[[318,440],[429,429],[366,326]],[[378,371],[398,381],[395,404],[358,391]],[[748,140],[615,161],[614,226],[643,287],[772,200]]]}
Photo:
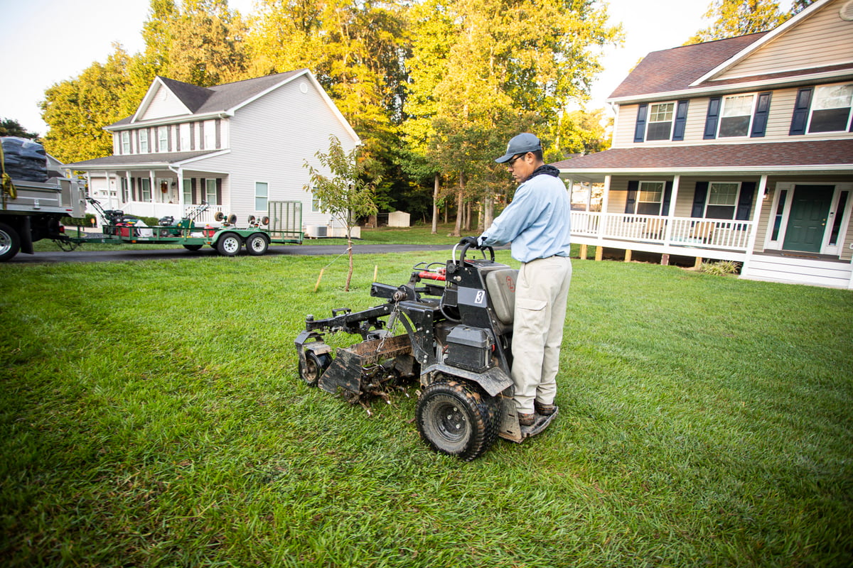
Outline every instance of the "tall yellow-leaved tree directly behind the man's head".
{"label": "tall yellow-leaved tree directly behind the man's head", "polygon": [[466,200],[484,198],[488,222],[505,185],[485,157],[587,97],[599,49],[620,30],[584,0],[426,0],[412,14],[408,140],[425,163],[458,178],[458,233]]}

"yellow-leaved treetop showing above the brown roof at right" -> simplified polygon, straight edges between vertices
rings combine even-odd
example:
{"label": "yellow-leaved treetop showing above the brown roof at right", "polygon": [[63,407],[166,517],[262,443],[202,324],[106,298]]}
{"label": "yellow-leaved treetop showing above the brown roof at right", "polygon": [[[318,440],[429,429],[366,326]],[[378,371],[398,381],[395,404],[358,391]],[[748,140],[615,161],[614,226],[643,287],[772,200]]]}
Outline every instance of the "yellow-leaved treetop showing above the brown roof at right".
{"label": "yellow-leaved treetop showing above the brown roof at right", "polygon": [[790,17],[780,10],[776,0],[714,0],[705,12],[705,18],[713,20],[711,26],[699,30],[684,44],[767,32]]}

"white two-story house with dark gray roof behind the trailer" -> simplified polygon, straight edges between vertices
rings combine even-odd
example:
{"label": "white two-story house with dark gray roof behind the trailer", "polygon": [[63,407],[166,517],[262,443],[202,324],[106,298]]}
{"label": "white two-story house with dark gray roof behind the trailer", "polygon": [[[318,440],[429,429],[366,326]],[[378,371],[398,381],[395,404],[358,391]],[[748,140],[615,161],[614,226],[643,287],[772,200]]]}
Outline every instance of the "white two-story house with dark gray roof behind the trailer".
{"label": "white two-story house with dark gray roof behind the trailer", "polygon": [[177,221],[205,203],[196,219],[212,224],[288,200],[302,202],[304,225],[327,225],[304,164],[322,170],[330,135],[346,152],[361,142],[307,69],[208,88],[156,77],[133,116],[106,130],[112,156],[65,166],[86,173],[104,209]]}

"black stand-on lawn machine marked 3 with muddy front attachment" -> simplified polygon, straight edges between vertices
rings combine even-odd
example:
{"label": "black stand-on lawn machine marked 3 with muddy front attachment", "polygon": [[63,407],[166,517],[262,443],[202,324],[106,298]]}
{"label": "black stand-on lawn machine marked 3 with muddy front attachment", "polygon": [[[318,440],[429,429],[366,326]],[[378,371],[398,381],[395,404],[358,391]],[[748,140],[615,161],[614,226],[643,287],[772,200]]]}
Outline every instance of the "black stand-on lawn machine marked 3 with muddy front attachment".
{"label": "black stand-on lawn machine marked 3 with muddy front attachment", "polygon": [[[387,401],[404,381],[417,379],[421,437],[466,461],[498,436],[521,442],[541,433],[557,415],[519,424],[510,377],[518,271],[496,262],[490,247],[476,259],[466,257],[468,249],[462,241],[450,261],[418,263],[401,286],[372,284],[370,295],[386,300],[376,307],[307,316],[295,341],[302,380],[353,404]],[[397,324],[403,332],[395,335]],[[324,337],[339,331],[362,341],[334,350]]]}

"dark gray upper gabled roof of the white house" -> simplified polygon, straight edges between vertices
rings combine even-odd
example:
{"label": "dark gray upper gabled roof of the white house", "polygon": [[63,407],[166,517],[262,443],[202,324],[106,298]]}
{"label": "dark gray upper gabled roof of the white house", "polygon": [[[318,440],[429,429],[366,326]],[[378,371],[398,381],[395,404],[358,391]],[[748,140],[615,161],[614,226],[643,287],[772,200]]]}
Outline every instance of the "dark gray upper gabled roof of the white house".
{"label": "dark gray upper gabled roof of the white house", "polygon": [[142,110],[148,107],[150,98],[154,95],[155,87],[169,89],[192,114],[206,115],[216,114],[217,112],[234,112],[235,109],[263,95],[281,83],[285,83],[293,77],[308,72],[307,69],[299,69],[297,71],[276,73],[206,88],[182,83],[181,81],[175,81],[166,77],[156,77],[136,113],[133,116],[122,118],[118,122],[110,124],[106,129],[121,129],[120,127],[122,126],[130,126],[132,123],[138,122]]}

